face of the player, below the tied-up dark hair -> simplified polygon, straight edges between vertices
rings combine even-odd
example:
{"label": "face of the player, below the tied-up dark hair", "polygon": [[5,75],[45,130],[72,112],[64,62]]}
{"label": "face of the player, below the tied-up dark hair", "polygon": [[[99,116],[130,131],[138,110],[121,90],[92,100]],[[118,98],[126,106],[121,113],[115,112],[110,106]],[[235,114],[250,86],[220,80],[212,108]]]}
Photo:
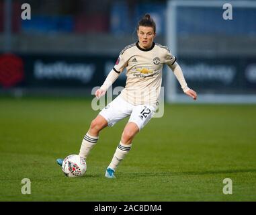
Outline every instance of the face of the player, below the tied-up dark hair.
{"label": "face of the player, below the tied-up dark hair", "polygon": [[141,48],[151,48],[153,40],[155,38],[155,32],[153,27],[139,26],[137,30],[138,45]]}

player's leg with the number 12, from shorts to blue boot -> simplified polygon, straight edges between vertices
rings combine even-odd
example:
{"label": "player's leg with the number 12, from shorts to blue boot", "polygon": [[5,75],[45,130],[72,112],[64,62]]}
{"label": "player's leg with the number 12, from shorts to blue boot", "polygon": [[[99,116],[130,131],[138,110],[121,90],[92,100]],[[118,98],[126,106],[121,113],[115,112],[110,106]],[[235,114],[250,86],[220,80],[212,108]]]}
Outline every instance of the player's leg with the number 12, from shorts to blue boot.
{"label": "player's leg with the number 12, from shorts to blue boot", "polygon": [[122,133],[121,141],[116,148],[116,153],[105,172],[105,177],[113,178],[114,172],[118,167],[119,163],[126,157],[130,148],[132,147],[132,140],[136,134],[151,120],[155,114],[155,107],[151,105],[137,105],[132,110],[128,124],[124,128]]}

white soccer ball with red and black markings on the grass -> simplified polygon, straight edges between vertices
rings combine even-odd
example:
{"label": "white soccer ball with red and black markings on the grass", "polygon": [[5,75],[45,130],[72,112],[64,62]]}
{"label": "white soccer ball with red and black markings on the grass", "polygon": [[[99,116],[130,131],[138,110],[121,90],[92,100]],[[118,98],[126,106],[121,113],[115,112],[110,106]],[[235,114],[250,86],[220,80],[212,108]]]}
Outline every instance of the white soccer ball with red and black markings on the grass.
{"label": "white soccer ball with red and black markings on the grass", "polygon": [[62,171],[67,177],[78,177],[85,174],[87,169],[85,159],[79,155],[69,155],[62,163]]}

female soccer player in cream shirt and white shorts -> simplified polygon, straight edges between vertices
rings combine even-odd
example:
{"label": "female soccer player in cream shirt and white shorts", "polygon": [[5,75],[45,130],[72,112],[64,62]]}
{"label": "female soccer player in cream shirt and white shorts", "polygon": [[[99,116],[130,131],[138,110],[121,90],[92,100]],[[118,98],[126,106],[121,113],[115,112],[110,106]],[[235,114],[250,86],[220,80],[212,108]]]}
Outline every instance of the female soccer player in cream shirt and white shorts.
{"label": "female soccer player in cream shirt and white shorts", "polygon": [[[110,71],[105,82],[95,92],[97,98],[103,96],[120,73],[126,68],[126,86],[91,122],[91,126],[83,138],[80,153],[87,158],[91,148],[99,139],[99,132],[106,126],[114,126],[116,122],[130,116],[116,148],[114,157],[105,171],[105,177],[114,178],[120,161],[130,151],[134,136],[151,120],[157,105],[162,82],[163,64],[167,64],[179,81],[184,93],[196,100],[197,94],[187,87],[181,67],[167,48],[154,42],[156,24],[149,14],[144,15],[137,26],[138,42],[126,46],[118,57],[116,65]],[[62,159],[57,159],[62,165]]]}

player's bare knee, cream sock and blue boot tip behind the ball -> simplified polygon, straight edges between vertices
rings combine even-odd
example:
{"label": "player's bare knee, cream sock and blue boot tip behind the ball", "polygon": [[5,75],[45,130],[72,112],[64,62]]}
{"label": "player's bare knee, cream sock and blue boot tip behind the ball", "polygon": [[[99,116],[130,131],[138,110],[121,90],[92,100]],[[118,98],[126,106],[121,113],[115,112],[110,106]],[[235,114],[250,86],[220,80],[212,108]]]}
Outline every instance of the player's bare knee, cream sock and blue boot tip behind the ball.
{"label": "player's bare knee, cream sock and blue boot tip behind the ball", "polygon": [[[87,134],[85,134],[81,143],[79,156],[85,159],[87,158],[89,152],[91,151],[93,146],[95,146],[97,140],[99,139],[99,132],[106,126],[108,126],[108,121],[100,115],[98,115],[93,121],[91,121],[91,126]],[[62,166],[63,160],[64,159],[56,159],[56,163]]]}

